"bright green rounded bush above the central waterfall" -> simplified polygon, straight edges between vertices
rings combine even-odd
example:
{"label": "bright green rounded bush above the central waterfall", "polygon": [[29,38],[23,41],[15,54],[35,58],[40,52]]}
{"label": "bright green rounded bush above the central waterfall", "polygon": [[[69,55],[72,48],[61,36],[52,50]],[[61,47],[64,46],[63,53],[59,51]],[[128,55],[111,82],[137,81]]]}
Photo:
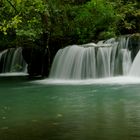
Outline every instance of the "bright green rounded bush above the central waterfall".
{"label": "bright green rounded bush above the central waterfall", "polygon": [[78,33],[82,36],[87,34],[89,41],[93,38],[97,39],[102,32],[109,32],[111,30],[115,32],[114,23],[116,16],[113,7],[110,3],[106,3],[103,0],[98,2],[92,0],[85,4],[80,9],[75,20],[77,26],[80,26],[79,29],[82,29]]}

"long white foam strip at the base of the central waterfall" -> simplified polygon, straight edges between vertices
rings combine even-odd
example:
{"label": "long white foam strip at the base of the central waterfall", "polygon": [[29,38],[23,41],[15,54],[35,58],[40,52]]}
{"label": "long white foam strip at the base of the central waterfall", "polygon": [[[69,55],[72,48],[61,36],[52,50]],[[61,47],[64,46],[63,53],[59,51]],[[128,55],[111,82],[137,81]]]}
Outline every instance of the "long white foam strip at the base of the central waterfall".
{"label": "long white foam strip at the base of the central waterfall", "polygon": [[35,83],[39,84],[53,84],[53,85],[90,85],[90,84],[140,84],[140,78],[136,77],[111,77],[101,79],[86,79],[86,80],[57,80],[44,79],[37,80]]}

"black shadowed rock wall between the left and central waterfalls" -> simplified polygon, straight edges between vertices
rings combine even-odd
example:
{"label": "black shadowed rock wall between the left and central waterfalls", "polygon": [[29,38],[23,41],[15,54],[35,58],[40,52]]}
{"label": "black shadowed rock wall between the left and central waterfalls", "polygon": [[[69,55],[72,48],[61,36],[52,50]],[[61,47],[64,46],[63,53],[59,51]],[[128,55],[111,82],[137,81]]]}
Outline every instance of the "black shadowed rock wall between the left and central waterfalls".
{"label": "black shadowed rock wall between the left and central waterfalls", "polygon": [[62,47],[61,44],[52,42],[49,44],[49,49],[44,46],[30,42],[23,44],[22,55],[28,64],[28,73],[31,77],[47,77],[55,54]]}

